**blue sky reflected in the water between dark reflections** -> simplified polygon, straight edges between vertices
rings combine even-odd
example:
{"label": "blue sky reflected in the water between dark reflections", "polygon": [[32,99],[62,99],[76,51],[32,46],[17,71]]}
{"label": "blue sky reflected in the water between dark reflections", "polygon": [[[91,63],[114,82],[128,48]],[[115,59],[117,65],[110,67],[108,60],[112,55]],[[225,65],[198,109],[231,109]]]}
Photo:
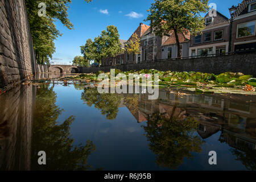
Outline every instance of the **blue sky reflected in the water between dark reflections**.
{"label": "blue sky reflected in the water between dark reflections", "polygon": [[[144,136],[143,125],[147,122],[138,123],[137,119],[130,113],[127,107],[119,107],[118,115],[113,120],[106,119],[100,110],[84,104],[81,100],[83,90],[75,90],[73,85],[56,85],[54,91],[57,93],[56,105],[64,109],[59,117],[63,122],[71,115],[75,116],[75,122],[71,126],[74,144],[85,144],[86,140],[92,140],[96,145],[96,151],[89,156],[89,164],[93,168],[106,170],[161,170],[155,163],[155,154],[148,148],[149,142]],[[236,123],[237,122],[237,123]],[[234,120],[231,123],[243,127],[243,120]],[[197,133],[196,133],[197,134]],[[184,159],[183,164],[178,168],[187,169],[246,169],[242,162],[235,160],[236,156],[230,152],[227,143],[218,141],[221,131],[204,139],[200,154],[193,152],[194,158]],[[198,135],[198,134],[197,134]],[[217,152],[217,166],[210,166],[208,163],[209,151]]]}

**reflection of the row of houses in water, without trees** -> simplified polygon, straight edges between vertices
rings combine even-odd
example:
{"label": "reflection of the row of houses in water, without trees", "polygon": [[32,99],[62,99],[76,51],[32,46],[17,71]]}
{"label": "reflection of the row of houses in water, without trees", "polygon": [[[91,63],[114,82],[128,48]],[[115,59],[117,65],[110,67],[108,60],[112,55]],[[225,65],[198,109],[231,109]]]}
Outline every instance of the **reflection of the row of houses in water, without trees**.
{"label": "reflection of the row of houses in water, without trees", "polygon": [[[158,100],[147,98],[147,94],[140,94],[137,109],[133,108],[132,114],[139,122],[146,121],[153,113],[164,114],[166,119],[189,116],[200,122],[198,133],[202,138],[226,129],[256,139],[256,105],[246,102],[250,101],[248,96],[226,100],[227,97],[221,95],[180,96],[169,90],[159,90]],[[131,106],[126,106],[130,110]]]}

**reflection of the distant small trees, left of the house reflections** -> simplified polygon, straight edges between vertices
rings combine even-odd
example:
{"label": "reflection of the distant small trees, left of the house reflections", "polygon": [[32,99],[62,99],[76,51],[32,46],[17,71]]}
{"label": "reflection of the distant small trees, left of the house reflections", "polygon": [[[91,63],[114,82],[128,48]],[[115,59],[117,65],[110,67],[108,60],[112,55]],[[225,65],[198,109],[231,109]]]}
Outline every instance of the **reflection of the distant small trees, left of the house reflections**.
{"label": "reflection of the distant small trees, left of the house reflections", "polygon": [[100,94],[97,88],[85,88],[82,92],[82,100],[90,107],[94,104],[97,109],[101,110],[102,115],[106,115],[107,119],[115,119],[121,104],[121,95]]}

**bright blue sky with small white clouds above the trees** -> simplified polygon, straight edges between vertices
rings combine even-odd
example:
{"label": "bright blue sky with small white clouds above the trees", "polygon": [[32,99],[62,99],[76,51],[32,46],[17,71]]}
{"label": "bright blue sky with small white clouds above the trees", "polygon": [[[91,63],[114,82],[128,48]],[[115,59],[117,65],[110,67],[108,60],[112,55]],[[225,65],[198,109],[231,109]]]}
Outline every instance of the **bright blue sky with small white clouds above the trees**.
{"label": "bright blue sky with small white clouds above the trees", "polygon": [[[56,52],[52,61],[69,63],[75,56],[81,55],[80,46],[86,40],[94,39],[100,35],[106,26],[117,26],[120,38],[129,39],[131,34],[144,22],[147,11],[154,0],[93,0],[86,3],[84,0],[73,0],[69,7],[69,19],[74,24],[75,30],[68,30],[60,22],[57,28],[63,34],[55,40]],[[217,11],[229,18],[228,8],[238,5],[242,0],[210,0],[216,3]]]}

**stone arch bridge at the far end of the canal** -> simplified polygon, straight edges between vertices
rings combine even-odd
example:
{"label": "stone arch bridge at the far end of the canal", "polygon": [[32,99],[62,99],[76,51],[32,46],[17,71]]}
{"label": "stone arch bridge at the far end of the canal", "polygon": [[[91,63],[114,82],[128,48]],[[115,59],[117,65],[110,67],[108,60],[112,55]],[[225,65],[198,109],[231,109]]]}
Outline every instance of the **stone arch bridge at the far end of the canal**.
{"label": "stone arch bridge at the far end of the canal", "polygon": [[70,73],[80,73],[79,66],[76,65],[49,65],[48,67],[49,72],[55,74],[70,74]]}

